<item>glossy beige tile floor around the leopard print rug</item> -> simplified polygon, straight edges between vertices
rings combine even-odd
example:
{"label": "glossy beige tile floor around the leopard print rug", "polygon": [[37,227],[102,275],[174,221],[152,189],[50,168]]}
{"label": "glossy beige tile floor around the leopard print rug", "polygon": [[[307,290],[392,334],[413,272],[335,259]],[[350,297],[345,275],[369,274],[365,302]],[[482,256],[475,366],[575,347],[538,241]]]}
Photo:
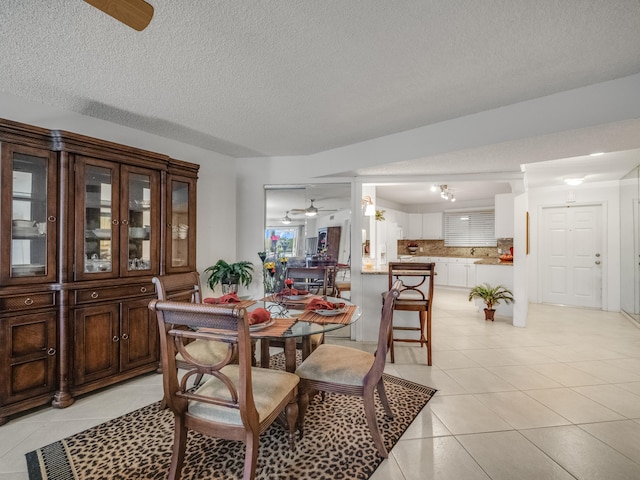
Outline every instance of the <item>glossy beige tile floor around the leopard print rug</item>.
{"label": "glossy beige tile floor around the leopard print rug", "polygon": [[[438,289],[433,344],[432,367],[403,344],[387,364],[438,392],[373,480],[640,479],[640,328],[623,315],[532,304],[516,328],[485,322],[465,291]],[[12,420],[0,427],[0,479],[25,480],[26,452],[160,391],[148,375]]]}

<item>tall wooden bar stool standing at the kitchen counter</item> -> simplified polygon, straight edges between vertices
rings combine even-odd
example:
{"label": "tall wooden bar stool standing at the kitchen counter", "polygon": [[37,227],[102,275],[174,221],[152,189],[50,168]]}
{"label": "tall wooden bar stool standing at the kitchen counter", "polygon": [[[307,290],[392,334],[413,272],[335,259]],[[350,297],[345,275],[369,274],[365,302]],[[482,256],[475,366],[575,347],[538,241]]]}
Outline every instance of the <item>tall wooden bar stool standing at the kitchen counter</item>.
{"label": "tall wooden bar stool standing at the kitchen counter", "polygon": [[[391,363],[395,362],[394,342],[413,342],[427,348],[427,365],[431,365],[431,307],[435,266],[435,263],[389,263],[389,289],[396,280],[402,282],[394,310],[418,312],[420,320],[420,325],[416,327],[396,326],[392,321],[389,333]],[[383,302],[385,294],[386,292],[382,294]],[[420,335],[418,338],[396,338],[394,330],[417,331]]]}

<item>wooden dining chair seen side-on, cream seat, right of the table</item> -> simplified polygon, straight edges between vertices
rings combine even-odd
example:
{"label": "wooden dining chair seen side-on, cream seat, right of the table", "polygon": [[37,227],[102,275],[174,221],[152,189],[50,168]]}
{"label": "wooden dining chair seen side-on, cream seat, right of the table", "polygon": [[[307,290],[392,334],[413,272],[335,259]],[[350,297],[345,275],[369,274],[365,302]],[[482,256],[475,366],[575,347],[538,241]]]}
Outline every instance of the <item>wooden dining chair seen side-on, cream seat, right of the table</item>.
{"label": "wooden dining chair seen side-on, cream seat, right of the table", "polygon": [[387,457],[387,449],[376,419],[375,390],[378,391],[385,413],[393,418],[384,390],[382,373],[387,359],[393,306],[400,287],[401,283],[396,282],[385,297],[378,332],[378,347],[374,354],[325,343],[318,346],[296,369],[296,374],[300,377],[298,423],[301,435],[304,432],[304,414],[309,405],[310,393],[320,391],[359,396],[363,399],[365,417],[373,442],[380,456]]}

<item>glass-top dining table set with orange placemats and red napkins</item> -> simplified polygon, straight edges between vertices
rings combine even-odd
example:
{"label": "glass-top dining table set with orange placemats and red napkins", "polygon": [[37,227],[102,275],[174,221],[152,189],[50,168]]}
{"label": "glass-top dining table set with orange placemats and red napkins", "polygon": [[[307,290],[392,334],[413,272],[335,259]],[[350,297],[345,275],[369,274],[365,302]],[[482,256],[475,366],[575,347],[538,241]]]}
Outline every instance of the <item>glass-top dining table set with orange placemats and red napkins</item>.
{"label": "glass-top dining table set with orange placemats and red napkins", "polygon": [[[305,298],[306,301],[312,298],[323,298],[319,295],[312,295]],[[252,310],[262,307],[271,312],[272,320],[269,322],[275,326],[266,328],[250,329],[252,339],[260,342],[260,365],[269,366],[269,345],[272,340],[279,340],[279,344],[284,342],[285,370],[295,372],[296,370],[296,349],[298,343],[302,350],[304,360],[311,353],[311,337],[316,334],[325,334],[340,328],[347,327],[357,321],[362,315],[362,310],[358,305],[343,298],[326,297],[332,303],[344,303],[344,311],[341,315],[325,316],[305,310],[305,302],[297,301],[273,301],[273,297],[265,297],[247,307]],[[322,312],[321,312],[322,313]],[[277,328],[280,326],[280,328]]]}

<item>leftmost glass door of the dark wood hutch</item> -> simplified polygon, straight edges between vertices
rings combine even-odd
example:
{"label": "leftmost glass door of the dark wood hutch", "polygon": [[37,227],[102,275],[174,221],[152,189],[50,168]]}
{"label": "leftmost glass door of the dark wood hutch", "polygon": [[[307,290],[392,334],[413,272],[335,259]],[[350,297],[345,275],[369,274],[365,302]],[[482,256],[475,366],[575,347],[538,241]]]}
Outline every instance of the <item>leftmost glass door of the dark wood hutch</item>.
{"label": "leftmost glass door of the dark wood hutch", "polygon": [[2,284],[56,278],[54,152],[2,145]]}

